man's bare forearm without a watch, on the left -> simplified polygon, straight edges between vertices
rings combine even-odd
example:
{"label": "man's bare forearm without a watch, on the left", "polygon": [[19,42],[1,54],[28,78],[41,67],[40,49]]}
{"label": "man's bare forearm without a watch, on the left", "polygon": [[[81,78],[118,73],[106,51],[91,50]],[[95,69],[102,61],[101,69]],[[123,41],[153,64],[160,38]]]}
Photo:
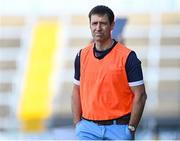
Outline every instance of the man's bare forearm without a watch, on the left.
{"label": "man's bare forearm without a watch, on the left", "polygon": [[71,99],[71,108],[73,114],[73,122],[76,125],[81,120],[82,108],[81,108],[81,100],[80,100],[80,86],[74,84],[72,99]]}

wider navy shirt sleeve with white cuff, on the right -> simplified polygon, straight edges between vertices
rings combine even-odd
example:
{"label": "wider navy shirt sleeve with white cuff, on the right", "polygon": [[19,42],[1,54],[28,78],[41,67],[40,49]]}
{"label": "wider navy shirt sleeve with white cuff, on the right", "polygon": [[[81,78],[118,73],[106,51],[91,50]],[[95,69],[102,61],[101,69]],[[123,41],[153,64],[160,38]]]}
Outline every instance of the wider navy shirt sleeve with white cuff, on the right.
{"label": "wider navy shirt sleeve with white cuff, on the right", "polygon": [[130,52],[125,67],[129,86],[138,86],[144,84],[141,61],[137,58],[134,51]]}

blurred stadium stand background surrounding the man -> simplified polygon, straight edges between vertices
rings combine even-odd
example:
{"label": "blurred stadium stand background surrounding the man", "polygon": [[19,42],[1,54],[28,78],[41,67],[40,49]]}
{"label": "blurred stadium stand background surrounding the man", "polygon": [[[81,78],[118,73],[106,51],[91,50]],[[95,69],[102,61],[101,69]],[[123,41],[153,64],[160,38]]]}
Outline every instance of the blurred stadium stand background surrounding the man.
{"label": "blurred stadium stand background surrounding the man", "polygon": [[75,139],[74,58],[91,41],[98,4],[142,61],[148,99],[137,139],[180,139],[179,0],[0,0],[0,139]]}

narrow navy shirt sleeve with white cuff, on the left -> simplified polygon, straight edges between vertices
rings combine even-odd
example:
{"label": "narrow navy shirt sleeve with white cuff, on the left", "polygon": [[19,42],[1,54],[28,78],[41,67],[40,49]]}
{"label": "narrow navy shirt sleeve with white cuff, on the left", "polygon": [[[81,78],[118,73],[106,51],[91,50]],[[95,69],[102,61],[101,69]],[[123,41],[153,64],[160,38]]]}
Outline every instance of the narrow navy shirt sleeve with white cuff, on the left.
{"label": "narrow navy shirt sleeve with white cuff, on the left", "polygon": [[76,85],[80,85],[80,54],[81,50],[77,53],[74,61],[74,81]]}

